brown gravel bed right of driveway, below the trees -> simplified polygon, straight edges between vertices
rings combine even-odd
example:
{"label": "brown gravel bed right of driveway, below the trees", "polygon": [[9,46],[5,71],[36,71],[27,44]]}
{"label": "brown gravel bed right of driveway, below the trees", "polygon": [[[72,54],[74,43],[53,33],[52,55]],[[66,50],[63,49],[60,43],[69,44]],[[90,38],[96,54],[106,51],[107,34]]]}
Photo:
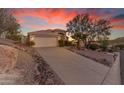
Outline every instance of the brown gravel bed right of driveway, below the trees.
{"label": "brown gravel bed right of driveway, below the trees", "polygon": [[77,50],[75,48],[70,48],[67,47],[66,49],[75,52],[77,54],[80,54],[82,56],[85,56],[87,58],[90,58],[96,62],[99,62],[103,65],[111,67],[116,55],[114,56],[114,53],[105,53],[105,52],[97,52],[97,51],[92,51],[92,50]]}

